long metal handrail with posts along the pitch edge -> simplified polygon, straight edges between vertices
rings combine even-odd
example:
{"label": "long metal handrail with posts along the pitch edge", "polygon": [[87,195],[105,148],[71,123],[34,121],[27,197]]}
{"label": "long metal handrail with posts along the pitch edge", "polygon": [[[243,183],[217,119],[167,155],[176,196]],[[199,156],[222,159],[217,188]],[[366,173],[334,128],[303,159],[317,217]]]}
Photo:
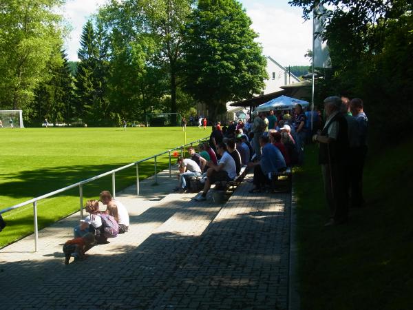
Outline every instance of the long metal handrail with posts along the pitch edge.
{"label": "long metal handrail with posts along the pitch edge", "polygon": [[127,169],[127,168],[129,168],[129,167],[133,167],[134,165],[136,165],[136,195],[139,196],[140,188],[139,188],[139,169],[138,169],[138,165],[139,165],[140,163],[143,163],[144,161],[149,161],[150,159],[154,158],[154,161],[155,161],[155,163],[154,163],[154,167],[155,167],[155,173],[154,173],[154,175],[155,175],[155,183],[156,183],[156,182],[157,182],[157,176],[156,176],[156,174],[157,174],[157,172],[156,172],[156,158],[157,158],[157,157],[162,156],[162,155],[165,155],[165,154],[169,154],[169,177],[171,177],[171,152],[175,151],[176,149],[180,149],[180,151],[181,151],[181,156],[182,156],[184,147],[187,147],[187,146],[189,146],[189,145],[192,146],[193,143],[198,143],[198,142],[201,142],[201,141],[205,141],[205,140],[207,140],[208,138],[209,138],[209,137],[201,138],[201,139],[198,139],[198,140],[196,140],[196,141],[193,141],[193,142],[190,142],[190,143],[187,143],[187,144],[184,144],[184,145],[180,145],[179,147],[174,147],[173,149],[169,149],[169,150],[167,150],[167,151],[165,151],[165,152],[162,152],[162,153],[159,153],[159,154],[156,154],[156,155],[153,155],[153,156],[150,156],[150,157],[141,159],[140,161],[135,161],[134,163],[129,163],[128,165],[125,165],[125,166],[122,166],[122,167],[118,167],[118,168],[113,169],[113,170],[111,170],[111,171],[109,171],[109,172],[105,172],[105,173],[103,173],[103,174],[99,174],[98,176],[92,176],[92,178],[87,178],[86,180],[81,180],[80,182],[74,183],[74,184],[69,185],[69,186],[67,186],[67,187],[63,187],[63,188],[61,188],[61,189],[56,189],[54,192],[50,192],[50,193],[44,194],[44,195],[42,195],[42,196],[39,196],[39,197],[36,197],[36,198],[32,198],[32,199],[30,199],[30,200],[24,201],[23,203],[19,203],[19,204],[17,204],[17,205],[13,205],[12,207],[8,207],[8,208],[6,208],[6,209],[2,209],[2,210],[0,210],[0,214],[4,214],[4,213],[6,213],[6,212],[8,212],[8,211],[11,211],[11,210],[14,210],[14,209],[18,209],[18,208],[20,208],[20,207],[24,207],[25,205],[29,205],[30,203],[32,203],[32,204],[33,204],[33,216],[34,216],[34,251],[37,251],[37,249],[38,249],[38,247],[37,247],[37,245],[38,245],[38,234],[39,234],[39,229],[38,229],[38,227],[37,227],[37,202],[38,202],[39,200],[42,200],[42,199],[44,199],[44,198],[49,198],[49,197],[51,197],[51,196],[54,196],[54,195],[56,195],[56,194],[60,194],[60,193],[62,193],[62,192],[66,192],[67,190],[73,189],[73,188],[75,188],[75,187],[79,187],[79,200],[80,200],[79,203],[80,203],[80,205],[81,205],[81,207],[80,207],[80,209],[81,209],[81,217],[83,217],[83,184],[92,182],[92,181],[94,181],[94,180],[98,180],[99,178],[103,178],[104,176],[109,176],[109,174],[112,174],[112,195],[113,195],[114,197],[116,197],[116,186],[115,186],[115,178],[116,178],[116,177],[115,177],[115,174],[116,174],[116,172],[119,172],[119,171],[121,171],[121,170],[123,170],[123,169]]}

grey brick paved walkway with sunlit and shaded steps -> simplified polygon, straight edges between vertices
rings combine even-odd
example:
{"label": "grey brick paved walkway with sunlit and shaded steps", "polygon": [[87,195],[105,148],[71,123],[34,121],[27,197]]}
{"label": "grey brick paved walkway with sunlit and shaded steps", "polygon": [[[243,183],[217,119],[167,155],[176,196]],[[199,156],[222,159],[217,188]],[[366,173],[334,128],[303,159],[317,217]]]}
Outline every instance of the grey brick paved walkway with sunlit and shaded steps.
{"label": "grey brick paved walkway with sunlit and shaded steps", "polygon": [[[251,178],[247,176],[246,179]],[[248,194],[244,181],[224,205],[167,194],[142,182],[117,194],[130,231],[63,264],[61,247],[79,214],[0,250],[3,309],[287,309],[290,195]]]}

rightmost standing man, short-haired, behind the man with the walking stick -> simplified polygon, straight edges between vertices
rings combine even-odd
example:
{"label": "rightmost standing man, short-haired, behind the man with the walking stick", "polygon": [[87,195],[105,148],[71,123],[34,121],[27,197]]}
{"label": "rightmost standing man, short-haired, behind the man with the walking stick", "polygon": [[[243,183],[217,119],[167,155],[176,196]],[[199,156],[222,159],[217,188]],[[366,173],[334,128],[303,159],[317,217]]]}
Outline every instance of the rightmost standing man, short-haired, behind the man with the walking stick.
{"label": "rightmost standing man, short-haired, behind the man with the walking stick", "polygon": [[367,154],[368,118],[364,113],[361,99],[356,98],[350,101],[350,111],[358,125],[358,147],[354,149],[354,154],[352,154],[355,160],[350,172],[350,202],[352,207],[363,207],[365,203],[363,198],[363,169]]}

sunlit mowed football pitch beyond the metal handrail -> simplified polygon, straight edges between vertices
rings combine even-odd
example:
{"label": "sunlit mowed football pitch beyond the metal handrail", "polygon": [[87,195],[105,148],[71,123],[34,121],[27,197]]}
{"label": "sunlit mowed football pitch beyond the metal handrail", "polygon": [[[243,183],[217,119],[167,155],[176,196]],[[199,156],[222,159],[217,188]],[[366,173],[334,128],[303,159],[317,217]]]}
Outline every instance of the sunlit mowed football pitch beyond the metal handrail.
{"label": "sunlit mowed football pitch beyond the metal handrail", "polygon": [[[210,130],[188,127],[186,141]],[[96,176],[184,144],[180,127],[25,128],[1,129],[0,209]],[[168,155],[158,158],[159,169]],[[153,174],[153,160],[140,164],[140,178]],[[134,167],[116,173],[116,190],[134,184]],[[84,202],[112,190],[112,176],[83,186]],[[54,223],[79,209],[78,189],[39,201],[39,227]],[[3,214],[8,227],[0,233],[0,247],[32,233],[32,205]]]}

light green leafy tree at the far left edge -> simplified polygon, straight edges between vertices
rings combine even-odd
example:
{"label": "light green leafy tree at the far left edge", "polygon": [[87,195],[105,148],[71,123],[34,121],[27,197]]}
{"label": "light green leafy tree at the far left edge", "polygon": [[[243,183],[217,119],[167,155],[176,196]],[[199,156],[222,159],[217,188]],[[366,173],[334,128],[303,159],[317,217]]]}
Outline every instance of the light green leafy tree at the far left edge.
{"label": "light green leafy tree at the far left edge", "polygon": [[59,61],[62,0],[2,0],[0,2],[0,104],[24,109],[34,99],[47,63]]}

